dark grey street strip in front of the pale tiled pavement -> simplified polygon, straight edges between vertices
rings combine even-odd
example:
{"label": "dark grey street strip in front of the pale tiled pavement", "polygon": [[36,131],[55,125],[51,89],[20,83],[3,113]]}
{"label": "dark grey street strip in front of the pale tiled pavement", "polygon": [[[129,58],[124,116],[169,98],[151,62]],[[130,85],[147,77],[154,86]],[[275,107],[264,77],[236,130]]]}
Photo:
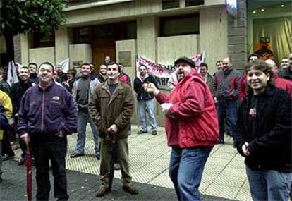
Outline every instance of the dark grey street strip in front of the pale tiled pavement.
{"label": "dark grey street strip in front of the pale tiled pavement", "polygon": [[[17,166],[16,161],[8,161],[4,164],[4,181],[0,184],[1,201],[26,200],[26,171],[25,166]],[[36,182],[35,170],[33,175],[33,200],[35,200]],[[174,190],[145,183],[135,183],[139,188],[139,195],[130,195],[123,192],[121,181],[114,179],[111,193],[104,197],[97,198],[95,193],[99,183],[99,176],[90,173],[67,171],[69,200],[176,200]],[[54,200],[53,178],[51,176],[50,200]],[[202,195],[203,201],[224,201],[227,199]]]}

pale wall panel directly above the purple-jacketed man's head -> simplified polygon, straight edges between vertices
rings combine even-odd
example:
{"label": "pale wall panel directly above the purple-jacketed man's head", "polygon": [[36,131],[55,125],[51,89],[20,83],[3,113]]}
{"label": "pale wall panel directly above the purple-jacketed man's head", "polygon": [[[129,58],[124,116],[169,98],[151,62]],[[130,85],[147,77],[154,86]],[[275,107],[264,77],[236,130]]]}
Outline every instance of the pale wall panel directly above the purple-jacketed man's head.
{"label": "pale wall panel directly above the purple-jacketed man's head", "polygon": [[30,49],[30,62],[39,64],[44,61],[49,63],[55,63],[55,48],[54,47],[42,47],[42,48],[32,48]]}

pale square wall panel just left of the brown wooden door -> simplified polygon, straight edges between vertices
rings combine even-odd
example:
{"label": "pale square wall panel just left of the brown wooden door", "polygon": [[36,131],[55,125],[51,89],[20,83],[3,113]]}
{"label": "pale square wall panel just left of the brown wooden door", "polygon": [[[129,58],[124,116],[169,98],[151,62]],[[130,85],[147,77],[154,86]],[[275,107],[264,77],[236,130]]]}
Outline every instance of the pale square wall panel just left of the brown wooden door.
{"label": "pale square wall panel just left of the brown wooden door", "polygon": [[[73,67],[73,61],[81,61],[81,63],[91,62],[91,46],[90,44],[71,44],[69,46],[70,66]],[[80,72],[80,68],[76,68]]]}

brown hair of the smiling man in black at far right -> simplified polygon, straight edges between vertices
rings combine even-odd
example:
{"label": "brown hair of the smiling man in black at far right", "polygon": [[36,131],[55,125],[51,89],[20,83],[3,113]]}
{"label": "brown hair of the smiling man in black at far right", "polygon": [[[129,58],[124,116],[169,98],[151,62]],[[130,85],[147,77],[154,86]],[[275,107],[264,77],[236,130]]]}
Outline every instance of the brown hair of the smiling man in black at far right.
{"label": "brown hair of the smiling man in black at far right", "polygon": [[251,61],[245,66],[245,73],[248,75],[248,71],[251,69],[255,69],[258,71],[262,71],[262,73],[269,75],[268,85],[274,85],[274,71],[272,70],[272,66],[269,66],[265,61],[260,59]]}

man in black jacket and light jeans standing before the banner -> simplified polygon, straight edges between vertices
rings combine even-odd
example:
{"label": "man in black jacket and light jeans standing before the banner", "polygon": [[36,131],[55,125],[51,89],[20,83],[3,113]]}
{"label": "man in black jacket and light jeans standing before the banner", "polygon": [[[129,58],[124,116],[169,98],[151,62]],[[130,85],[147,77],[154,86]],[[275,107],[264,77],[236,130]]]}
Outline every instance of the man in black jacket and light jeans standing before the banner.
{"label": "man in black jacket and light jeans standing before the banner", "polygon": [[154,113],[154,95],[151,95],[145,91],[142,87],[144,83],[154,83],[157,87],[157,80],[152,75],[147,73],[147,67],[141,65],[139,67],[140,75],[134,80],[134,90],[137,93],[137,100],[140,112],[141,130],[138,134],[147,133],[147,119],[146,108],[150,118],[150,125],[152,129],[152,135],[157,135],[157,123]]}

